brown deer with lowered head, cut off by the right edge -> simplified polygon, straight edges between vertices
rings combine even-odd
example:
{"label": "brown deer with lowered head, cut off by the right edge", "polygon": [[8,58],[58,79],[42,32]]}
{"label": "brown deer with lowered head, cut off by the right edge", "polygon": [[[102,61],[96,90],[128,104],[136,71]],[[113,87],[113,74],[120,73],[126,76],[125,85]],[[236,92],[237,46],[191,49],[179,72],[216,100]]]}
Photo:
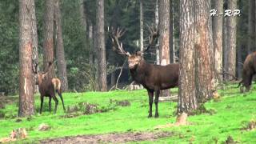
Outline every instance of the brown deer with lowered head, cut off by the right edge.
{"label": "brown deer with lowered head, cut off by the right edge", "polygon": [[242,67],[242,81],[239,82],[238,87],[242,84],[241,92],[243,92],[243,86],[246,87],[246,91],[250,90],[251,81],[254,74],[256,74],[256,52],[247,55]]}

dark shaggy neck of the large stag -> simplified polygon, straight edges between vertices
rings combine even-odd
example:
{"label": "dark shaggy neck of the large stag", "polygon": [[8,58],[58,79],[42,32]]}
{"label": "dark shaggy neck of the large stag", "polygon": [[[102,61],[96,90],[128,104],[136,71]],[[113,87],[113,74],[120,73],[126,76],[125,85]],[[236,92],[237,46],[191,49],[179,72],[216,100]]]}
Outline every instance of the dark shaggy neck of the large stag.
{"label": "dark shaggy neck of the large stag", "polygon": [[138,66],[136,66],[134,69],[130,69],[130,74],[134,81],[143,84],[146,73],[150,72],[149,69],[151,65],[152,64],[147,63],[144,59],[142,59],[141,62],[139,62]]}

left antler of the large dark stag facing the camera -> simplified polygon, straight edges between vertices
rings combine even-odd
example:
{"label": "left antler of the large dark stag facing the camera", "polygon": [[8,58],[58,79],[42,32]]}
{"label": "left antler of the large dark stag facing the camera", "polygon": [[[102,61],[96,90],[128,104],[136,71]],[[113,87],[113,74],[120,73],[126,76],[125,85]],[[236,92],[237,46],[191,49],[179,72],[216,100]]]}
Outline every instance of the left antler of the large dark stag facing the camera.
{"label": "left antler of the large dark stag facing the camera", "polygon": [[119,29],[119,27],[118,27],[118,30],[114,30],[112,27],[110,38],[112,40],[113,50],[115,52],[117,52],[118,54],[121,54],[121,55],[130,56],[129,52],[126,52],[125,50],[123,50],[122,42],[119,43],[119,41],[118,41],[118,38],[121,38],[122,35],[125,34],[125,32],[126,32],[126,30]]}

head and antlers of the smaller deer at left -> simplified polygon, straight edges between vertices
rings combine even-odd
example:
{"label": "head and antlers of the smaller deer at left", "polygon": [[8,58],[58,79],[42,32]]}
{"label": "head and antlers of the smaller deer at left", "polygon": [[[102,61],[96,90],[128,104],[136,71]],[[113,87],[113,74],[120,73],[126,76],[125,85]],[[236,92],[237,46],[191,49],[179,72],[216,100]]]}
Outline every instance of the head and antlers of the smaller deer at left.
{"label": "head and antlers of the smaller deer at left", "polygon": [[35,84],[39,85],[39,83],[42,83],[42,81],[46,78],[46,75],[48,74],[48,71],[50,69],[50,66],[52,65],[53,62],[48,62],[48,66],[46,71],[43,72],[38,72],[38,62],[35,63],[35,66],[32,66],[33,72],[35,74]]}

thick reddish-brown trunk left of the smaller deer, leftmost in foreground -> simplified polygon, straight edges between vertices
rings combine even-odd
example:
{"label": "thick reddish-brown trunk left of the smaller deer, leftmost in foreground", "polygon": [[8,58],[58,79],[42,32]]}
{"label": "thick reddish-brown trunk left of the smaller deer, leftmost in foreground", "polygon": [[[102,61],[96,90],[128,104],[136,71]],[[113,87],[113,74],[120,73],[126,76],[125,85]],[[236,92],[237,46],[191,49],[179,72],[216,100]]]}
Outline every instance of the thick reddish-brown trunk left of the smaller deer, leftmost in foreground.
{"label": "thick reddish-brown trunk left of the smaller deer, leftmost in foreground", "polygon": [[18,116],[30,116],[34,110],[34,81],[32,71],[32,18],[34,0],[19,0],[19,106]]}

